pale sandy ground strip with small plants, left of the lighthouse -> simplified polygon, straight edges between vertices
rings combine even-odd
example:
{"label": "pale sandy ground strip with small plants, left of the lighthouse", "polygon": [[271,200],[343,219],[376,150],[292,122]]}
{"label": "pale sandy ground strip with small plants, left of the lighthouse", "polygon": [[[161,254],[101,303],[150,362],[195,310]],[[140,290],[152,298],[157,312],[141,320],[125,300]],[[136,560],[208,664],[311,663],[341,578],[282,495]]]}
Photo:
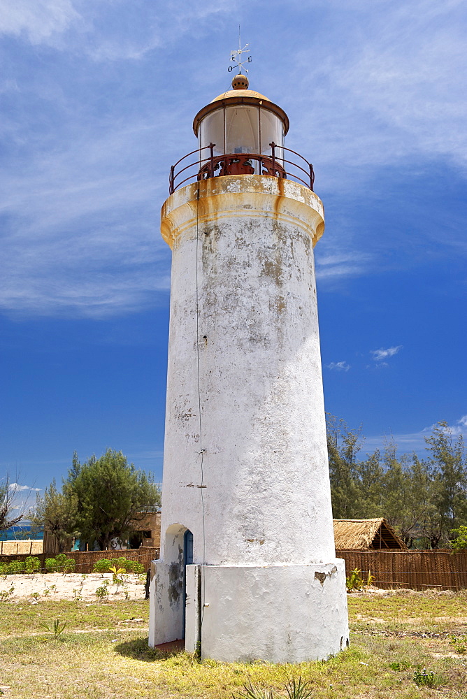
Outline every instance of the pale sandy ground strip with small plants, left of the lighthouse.
{"label": "pale sandy ground strip with small plants, left of the lighthouse", "polygon": [[[108,581],[109,599],[144,599],[145,588],[143,577],[138,575],[123,575],[124,585],[118,589],[112,582],[112,574],[89,573],[81,575],[78,572],[69,573],[34,573],[34,575],[2,575],[0,577],[0,596],[2,591],[10,591],[4,601],[17,602],[29,600],[31,604],[40,604],[44,600],[73,600],[80,598],[87,602],[96,602],[96,589]],[[145,576],[144,576],[145,579]],[[34,595],[38,593],[38,596]],[[34,595],[31,596],[31,595]]]}

